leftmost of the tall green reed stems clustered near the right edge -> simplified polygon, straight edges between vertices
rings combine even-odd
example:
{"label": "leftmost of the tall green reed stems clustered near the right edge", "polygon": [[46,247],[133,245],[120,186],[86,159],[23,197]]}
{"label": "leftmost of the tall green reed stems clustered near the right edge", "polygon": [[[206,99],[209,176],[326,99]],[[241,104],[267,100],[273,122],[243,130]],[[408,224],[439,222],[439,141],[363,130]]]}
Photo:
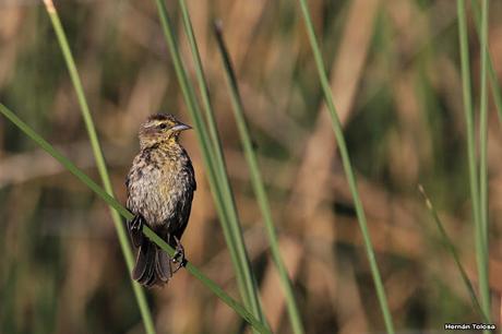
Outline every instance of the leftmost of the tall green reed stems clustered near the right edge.
{"label": "leftmost of the tall green reed stems clustered near the right edge", "polygon": [[[470,198],[473,201],[473,217],[475,226],[475,241],[476,241],[476,262],[478,267],[478,282],[479,290],[481,291],[482,314],[490,315],[489,307],[489,283],[488,283],[488,253],[486,238],[483,237],[483,227],[481,219],[481,203],[482,198],[480,193],[478,179],[478,170],[476,164],[476,139],[474,126],[474,107],[471,98],[471,84],[470,84],[470,70],[469,70],[469,50],[467,37],[467,20],[465,13],[465,1],[457,0],[457,15],[458,15],[458,38],[461,45],[461,63],[462,63],[462,86],[464,98],[464,114],[466,119],[467,131],[467,156],[469,162],[469,181],[470,181]],[[485,88],[486,90],[486,88]],[[485,91],[486,94],[486,91]],[[487,299],[488,296],[488,299]],[[488,300],[488,308],[487,308]],[[487,318],[489,319],[489,318]]]}

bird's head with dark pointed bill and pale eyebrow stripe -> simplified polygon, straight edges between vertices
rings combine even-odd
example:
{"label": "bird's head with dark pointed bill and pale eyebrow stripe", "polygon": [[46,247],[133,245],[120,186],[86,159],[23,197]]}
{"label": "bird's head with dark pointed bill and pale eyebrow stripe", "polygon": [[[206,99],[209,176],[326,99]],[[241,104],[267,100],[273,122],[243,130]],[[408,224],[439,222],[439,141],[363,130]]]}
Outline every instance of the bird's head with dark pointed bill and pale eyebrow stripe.
{"label": "bird's head with dark pointed bill and pale eyebrow stripe", "polygon": [[140,129],[142,148],[158,144],[175,144],[181,131],[192,129],[169,114],[156,114],[148,117]]}

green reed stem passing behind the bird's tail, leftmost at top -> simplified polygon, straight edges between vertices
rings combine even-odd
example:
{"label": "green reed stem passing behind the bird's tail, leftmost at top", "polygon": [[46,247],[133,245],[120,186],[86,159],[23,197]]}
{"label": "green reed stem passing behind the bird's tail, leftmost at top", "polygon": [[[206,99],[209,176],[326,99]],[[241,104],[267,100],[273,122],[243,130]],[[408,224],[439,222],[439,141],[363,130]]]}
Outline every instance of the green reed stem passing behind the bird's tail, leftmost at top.
{"label": "green reed stem passing behind the bird's tail, leftmost at top", "polygon": [[[79,105],[82,111],[82,116],[85,121],[85,126],[87,128],[88,138],[91,141],[91,146],[93,148],[94,157],[96,159],[96,166],[99,171],[99,176],[101,178],[103,186],[105,187],[106,192],[113,196],[113,190],[111,187],[110,178],[108,176],[108,170],[106,167],[105,158],[103,156],[101,147],[99,145],[99,140],[97,138],[96,129],[94,127],[93,118],[91,116],[91,111],[87,105],[87,100],[85,98],[84,90],[82,87],[82,82],[80,80],[79,72],[76,70],[75,61],[71,53],[70,46],[68,44],[67,36],[64,34],[64,29],[62,27],[61,21],[59,19],[58,12],[53,7],[51,0],[44,1],[46,5],[47,13],[49,14],[50,21],[52,23],[52,27],[56,32],[58,37],[59,46],[64,57],[64,61],[68,67],[68,71],[70,72],[70,77],[75,88],[76,97],[79,100]],[[120,247],[122,250],[122,254],[125,259],[127,266],[131,272],[134,266],[133,254],[129,244],[128,235],[123,227],[122,220],[120,219],[120,215],[117,211],[110,207],[111,218],[113,220],[115,228],[117,230],[117,235],[119,237]],[[150,312],[148,305],[146,302],[145,294],[141,288],[141,285],[135,283],[131,279],[132,288],[134,291],[134,296],[136,298],[136,302],[140,307],[141,317],[143,319],[143,324],[145,326],[145,331],[148,334],[155,333],[155,326],[152,319],[152,313]]]}

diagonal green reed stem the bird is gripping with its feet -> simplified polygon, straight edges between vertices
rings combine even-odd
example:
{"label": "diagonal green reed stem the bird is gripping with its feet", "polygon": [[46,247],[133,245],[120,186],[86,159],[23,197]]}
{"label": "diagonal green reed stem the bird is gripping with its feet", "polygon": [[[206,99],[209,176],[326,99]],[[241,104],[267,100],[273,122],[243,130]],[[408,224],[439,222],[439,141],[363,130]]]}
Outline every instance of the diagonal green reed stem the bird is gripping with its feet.
{"label": "diagonal green reed stem the bird is gripping with its feet", "polygon": [[[14,112],[9,110],[4,105],[0,104],[0,112],[5,116],[11,122],[13,122],[21,131],[23,131],[29,139],[36,142],[44,151],[55,157],[68,171],[73,174],[80,181],[82,181],[87,188],[94,191],[101,200],[104,200],[110,207],[117,211],[125,219],[132,219],[133,215],[123,207],[115,198],[112,198],[106,190],[100,188],[86,174],[84,174],[79,167],[76,167],[70,159],[59,153],[52,145],[45,141],[38,133],[23,122]],[[174,255],[175,250],[164,242],[152,229],[146,225],[143,227],[143,234],[152,239],[158,247],[165,250],[170,255]],[[192,265],[190,262],[187,263],[187,271],[198,278],[203,285],[205,285],[213,294],[215,294],[223,302],[228,305],[236,311],[246,322],[248,322],[259,333],[270,334],[271,332],[258,320],[256,317],[251,314],[244,307],[242,307],[237,300],[227,295],[216,283],[205,276],[199,269]]]}

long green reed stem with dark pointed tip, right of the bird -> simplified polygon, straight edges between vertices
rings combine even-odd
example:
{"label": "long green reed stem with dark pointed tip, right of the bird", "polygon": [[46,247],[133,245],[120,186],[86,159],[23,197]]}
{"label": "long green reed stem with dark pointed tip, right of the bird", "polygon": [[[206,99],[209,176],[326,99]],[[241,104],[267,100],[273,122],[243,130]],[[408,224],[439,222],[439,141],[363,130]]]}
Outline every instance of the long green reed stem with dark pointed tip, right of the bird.
{"label": "long green reed stem with dark pointed tip, right of the bird", "polygon": [[284,264],[283,257],[280,255],[280,249],[277,241],[277,234],[272,217],[268,198],[266,195],[263,178],[258,165],[256,155],[253,150],[249,128],[246,122],[242,99],[240,97],[237,79],[231,64],[230,56],[225,45],[222,26],[219,24],[215,24],[215,35],[219,51],[222,53],[227,84],[230,91],[234,115],[236,117],[237,127],[239,129],[240,141],[242,143],[242,146],[244,147],[246,159],[248,162],[249,170],[251,174],[251,183],[265,223],[265,230],[268,237],[268,242],[271,244],[272,258],[277,267],[277,272],[279,274],[279,282],[283,287],[284,295],[286,297],[286,306],[289,314],[289,321],[291,323],[292,332],[295,334],[301,334],[304,333],[303,324],[301,322],[300,312],[295,300],[292,285],[289,281],[288,272],[286,265]]}

